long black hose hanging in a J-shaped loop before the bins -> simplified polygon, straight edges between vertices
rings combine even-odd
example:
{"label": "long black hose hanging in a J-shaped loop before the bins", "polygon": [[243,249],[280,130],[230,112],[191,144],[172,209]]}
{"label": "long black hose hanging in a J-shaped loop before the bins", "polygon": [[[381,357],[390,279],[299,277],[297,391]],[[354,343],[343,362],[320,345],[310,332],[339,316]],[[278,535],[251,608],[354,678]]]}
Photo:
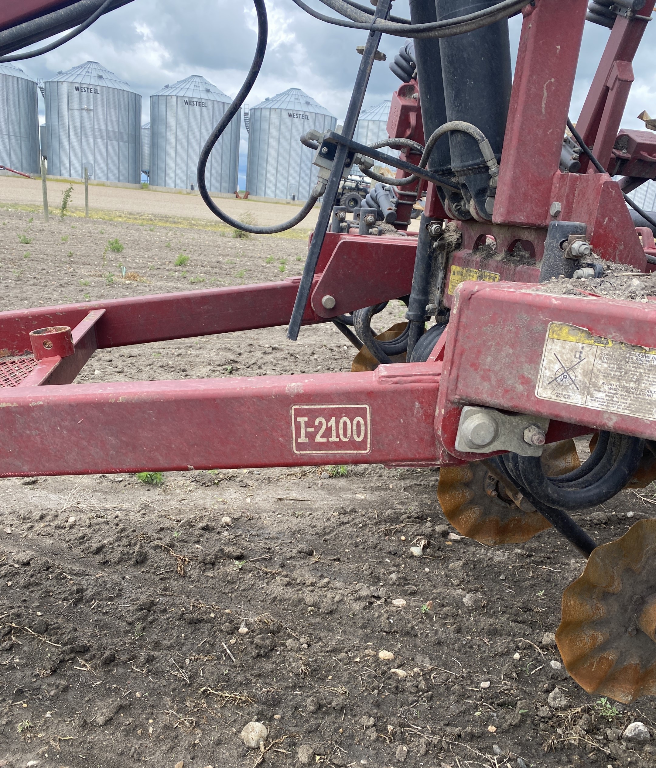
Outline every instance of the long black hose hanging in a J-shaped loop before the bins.
{"label": "long black hose hanging in a J-shaped loop before the bins", "polygon": [[290,230],[292,227],[296,227],[297,223],[303,221],[303,219],[310,213],[316,204],[318,197],[310,195],[306,204],[300,209],[296,216],[289,221],[285,221],[281,224],[275,224],[273,227],[256,227],[253,224],[245,224],[242,221],[238,221],[233,217],[226,214],[220,207],[214,203],[214,200],[210,197],[210,193],[207,191],[207,185],[205,184],[205,168],[207,167],[207,161],[210,158],[210,152],[214,149],[214,144],[217,143],[221,134],[226,130],[230,121],[239,112],[241,105],[250,93],[250,89],[253,88],[253,84],[257,79],[257,75],[260,74],[260,68],[262,68],[262,62],[264,61],[264,54],[267,51],[267,35],[268,35],[268,22],[267,22],[267,8],[264,5],[264,0],[253,0],[255,10],[257,12],[257,46],[255,48],[255,55],[253,56],[253,63],[250,65],[246,80],[241,86],[239,93],[235,96],[234,101],[224,112],[224,116],[217,123],[214,131],[210,133],[210,136],[205,142],[205,146],[200,151],[200,157],[198,158],[197,168],[197,180],[198,191],[200,197],[203,198],[205,205],[212,211],[212,213],[219,217],[220,220],[230,224],[230,227],[234,227],[236,230],[242,232],[249,232],[256,235],[273,235],[277,232],[284,232]]}

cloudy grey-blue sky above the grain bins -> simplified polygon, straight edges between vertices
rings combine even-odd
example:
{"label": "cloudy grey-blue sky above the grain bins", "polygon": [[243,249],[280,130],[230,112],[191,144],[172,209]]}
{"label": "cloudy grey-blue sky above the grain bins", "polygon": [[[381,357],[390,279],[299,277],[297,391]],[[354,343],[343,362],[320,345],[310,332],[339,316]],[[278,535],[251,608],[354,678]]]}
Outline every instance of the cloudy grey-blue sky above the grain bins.
{"label": "cloudy grey-blue sky above the grain bins", "polygon": [[[311,2],[319,6],[316,0]],[[566,5],[565,0],[562,2]],[[319,7],[327,12],[324,6]],[[269,47],[247,103],[254,106],[266,96],[297,87],[343,119],[360,60],[356,45],[363,44],[365,33],[319,22],[292,0],[267,0],[267,10]],[[409,15],[407,0],[396,0],[394,12]],[[519,17],[510,21],[513,56],[520,23]],[[578,115],[608,39],[607,29],[590,23],[585,26],[570,109],[572,119]],[[21,66],[32,77],[46,80],[84,61],[99,61],[142,94],[145,122],[149,117],[148,97],[164,84],[190,74],[204,75],[234,97],[250,66],[256,30],[251,0],[134,0],[103,16],[61,48],[22,62]],[[391,61],[402,43],[401,38],[384,36],[380,49]],[[650,55],[655,46],[656,27],[650,24],[634,61],[635,82],[625,127],[644,127],[636,119],[644,109],[656,114],[656,68]],[[387,64],[376,62],[365,106],[389,98],[398,84]]]}

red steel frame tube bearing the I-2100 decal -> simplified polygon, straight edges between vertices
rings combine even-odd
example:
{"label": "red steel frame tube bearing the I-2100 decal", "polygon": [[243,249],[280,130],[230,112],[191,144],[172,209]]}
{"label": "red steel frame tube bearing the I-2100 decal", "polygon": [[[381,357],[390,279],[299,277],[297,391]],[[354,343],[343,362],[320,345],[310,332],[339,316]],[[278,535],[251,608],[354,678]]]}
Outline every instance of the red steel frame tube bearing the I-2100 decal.
{"label": "red steel frame tube bearing the I-2100 decal", "polygon": [[436,465],[442,364],[0,390],[0,475]]}

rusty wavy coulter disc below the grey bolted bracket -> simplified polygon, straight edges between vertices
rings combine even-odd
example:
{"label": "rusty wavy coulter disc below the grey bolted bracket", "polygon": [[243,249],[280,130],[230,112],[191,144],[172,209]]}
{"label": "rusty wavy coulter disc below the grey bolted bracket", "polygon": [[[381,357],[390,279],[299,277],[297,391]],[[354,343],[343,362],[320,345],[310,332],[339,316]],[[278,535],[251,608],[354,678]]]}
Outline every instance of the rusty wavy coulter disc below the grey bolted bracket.
{"label": "rusty wavy coulter disc below the grey bolted bracket", "polygon": [[[542,466],[551,477],[565,475],[579,465],[573,440],[551,443],[542,453]],[[492,475],[483,462],[442,467],[437,498],[456,531],[489,547],[519,544],[551,527],[526,499]]]}

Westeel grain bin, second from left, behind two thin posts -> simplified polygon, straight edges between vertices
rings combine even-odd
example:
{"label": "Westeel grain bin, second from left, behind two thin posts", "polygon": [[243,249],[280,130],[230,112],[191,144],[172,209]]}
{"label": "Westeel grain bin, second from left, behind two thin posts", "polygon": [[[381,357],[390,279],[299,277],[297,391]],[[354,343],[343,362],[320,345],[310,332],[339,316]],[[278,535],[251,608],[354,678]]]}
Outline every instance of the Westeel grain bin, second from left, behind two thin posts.
{"label": "Westeel grain bin, second from left, behind two thin posts", "polygon": [[141,181],[141,96],[87,61],[44,83],[48,174]]}

